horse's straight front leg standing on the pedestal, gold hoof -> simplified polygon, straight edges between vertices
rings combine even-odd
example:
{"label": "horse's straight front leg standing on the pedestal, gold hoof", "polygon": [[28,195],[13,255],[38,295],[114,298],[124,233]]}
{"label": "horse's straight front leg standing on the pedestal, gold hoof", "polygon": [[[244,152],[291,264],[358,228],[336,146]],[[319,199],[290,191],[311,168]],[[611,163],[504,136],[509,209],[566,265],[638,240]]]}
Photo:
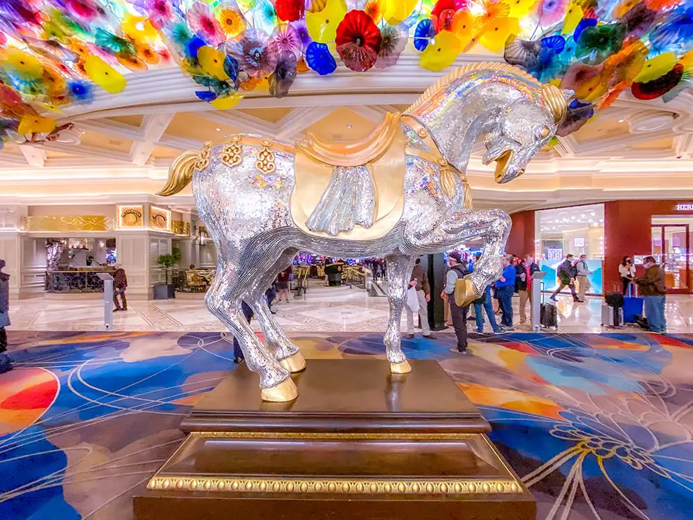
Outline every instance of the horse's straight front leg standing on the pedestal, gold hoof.
{"label": "horse's straight front leg standing on the pedestal, gold hoof", "polygon": [[415,257],[403,254],[385,257],[387,263],[387,301],[389,302],[389,318],[385,331],[385,354],[390,363],[390,372],[406,374],[412,371],[407,356],[402,352],[400,327],[405,297],[412,277]]}

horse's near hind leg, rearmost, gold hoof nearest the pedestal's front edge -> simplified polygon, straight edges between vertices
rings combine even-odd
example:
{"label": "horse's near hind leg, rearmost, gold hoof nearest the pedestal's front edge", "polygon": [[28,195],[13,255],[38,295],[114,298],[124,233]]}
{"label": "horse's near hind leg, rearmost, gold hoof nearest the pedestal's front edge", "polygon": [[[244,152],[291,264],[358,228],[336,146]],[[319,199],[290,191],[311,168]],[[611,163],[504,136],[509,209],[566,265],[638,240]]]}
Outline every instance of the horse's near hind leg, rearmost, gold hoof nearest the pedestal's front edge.
{"label": "horse's near hind leg, rearmost, gold hoof nearest the pedestal's front edge", "polygon": [[[238,339],[247,367],[260,376],[263,401],[286,402],[296,399],[298,391],[289,376],[270,351],[258,340],[245,316],[240,312],[240,302],[247,295],[247,288],[239,284],[238,270],[220,260],[220,270],[207,291],[207,308],[221,320]],[[244,273],[253,279],[253,273]]]}

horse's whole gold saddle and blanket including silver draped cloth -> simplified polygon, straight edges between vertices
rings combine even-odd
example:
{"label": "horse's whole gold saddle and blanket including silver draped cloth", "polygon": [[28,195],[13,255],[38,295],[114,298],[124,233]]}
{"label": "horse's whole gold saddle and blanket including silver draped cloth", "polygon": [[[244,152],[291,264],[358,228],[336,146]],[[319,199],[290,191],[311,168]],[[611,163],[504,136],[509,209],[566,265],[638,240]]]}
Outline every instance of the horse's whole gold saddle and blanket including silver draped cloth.
{"label": "horse's whole gold saddle and blanket including silver draped cloth", "polygon": [[294,222],[313,236],[379,239],[401,218],[405,168],[400,114],[356,143],[308,135],[296,145]]}

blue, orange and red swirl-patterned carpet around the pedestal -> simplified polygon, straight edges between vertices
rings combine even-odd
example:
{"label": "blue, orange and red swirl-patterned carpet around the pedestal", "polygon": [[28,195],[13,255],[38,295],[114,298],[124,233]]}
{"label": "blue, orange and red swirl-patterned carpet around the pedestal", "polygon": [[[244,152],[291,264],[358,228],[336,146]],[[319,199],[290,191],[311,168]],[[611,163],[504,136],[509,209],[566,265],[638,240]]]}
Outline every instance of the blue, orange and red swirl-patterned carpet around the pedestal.
{"label": "blue, orange and red swirl-patterned carpet around the pedestal", "polygon": [[[306,358],[382,356],[382,334],[293,333]],[[493,425],[539,519],[690,519],[693,336],[533,334],[405,340]],[[128,519],[177,426],[229,370],[214,332],[10,335],[0,375],[0,519]]]}

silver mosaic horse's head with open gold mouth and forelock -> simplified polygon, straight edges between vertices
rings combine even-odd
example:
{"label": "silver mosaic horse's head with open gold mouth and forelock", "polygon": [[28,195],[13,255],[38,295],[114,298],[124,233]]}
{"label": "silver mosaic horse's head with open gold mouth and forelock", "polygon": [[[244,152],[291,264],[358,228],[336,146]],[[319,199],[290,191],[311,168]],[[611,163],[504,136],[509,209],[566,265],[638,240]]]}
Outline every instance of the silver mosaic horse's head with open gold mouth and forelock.
{"label": "silver mosaic horse's head with open gold mouth and forelock", "polygon": [[565,117],[565,101],[572,92],[542,85],[541,102],[519,98],[500,110],[494,128],[486,134],[484,164],[493,161],[495,182],[503,184],[525,173],[527,163],[556,134]]}

